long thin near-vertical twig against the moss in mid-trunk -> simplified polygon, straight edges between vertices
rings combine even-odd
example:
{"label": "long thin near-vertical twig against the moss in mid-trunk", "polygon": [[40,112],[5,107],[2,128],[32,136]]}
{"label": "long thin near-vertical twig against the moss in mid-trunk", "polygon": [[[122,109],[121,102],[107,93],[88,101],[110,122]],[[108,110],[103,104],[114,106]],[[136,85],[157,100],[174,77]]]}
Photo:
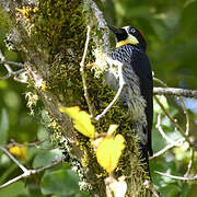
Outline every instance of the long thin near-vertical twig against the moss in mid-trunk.
{"label": "long thin near-vertical twig against the moss in mid-trunk", "polygon": [[80,72],[81,72],[81,77],[82,77],[84,97],[85,97],[86,104],[89,106],[89,113],[90,113],[91,117],[93,117],[93,107],[92,107],[92,104],[91,104],[91,101],[90,101],[90,97],[89,97],[89,92],[88,92],[88,86],[86,86],[86,78],[85,78],[85,72],[84,72],[84,61],[85,61],[86,51],[88,51],[88,48],[89,48],[91,27],[88,25],[86,28],[88,28],[88,31],[86,31],[86,40],[85,40],[83,57],[82,57],[82,60],[80,62]]}

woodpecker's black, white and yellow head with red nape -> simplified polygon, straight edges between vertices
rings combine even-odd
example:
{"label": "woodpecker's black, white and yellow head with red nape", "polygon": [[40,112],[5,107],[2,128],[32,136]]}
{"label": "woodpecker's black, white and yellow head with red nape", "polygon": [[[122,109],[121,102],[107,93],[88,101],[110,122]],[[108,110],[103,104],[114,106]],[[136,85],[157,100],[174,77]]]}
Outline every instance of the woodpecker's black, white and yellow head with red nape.
{"label": "woodpecker's black, white and yellow head with red nape", "polygon": [[115,26],[108,25],[109,30],[116,36],[116,47],[120,47],[123,45],[131,44],[138,46],[140,49],[146,51],[146,39],[143,34],[134,26],[124,26],[121,28],[117,28]]}

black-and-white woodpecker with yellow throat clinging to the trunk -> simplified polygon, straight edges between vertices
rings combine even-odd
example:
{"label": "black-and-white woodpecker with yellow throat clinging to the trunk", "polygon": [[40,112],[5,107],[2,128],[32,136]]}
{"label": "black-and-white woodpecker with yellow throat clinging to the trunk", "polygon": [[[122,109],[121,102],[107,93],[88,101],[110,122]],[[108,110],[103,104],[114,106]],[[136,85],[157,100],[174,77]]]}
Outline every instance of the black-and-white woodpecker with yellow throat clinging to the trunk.
{"label": "black-and-white woodpecker with yellow throat clinging to the trunk", "polygon": [[152,155],[151,128],[153,119],[153,81],[149,58],[146,55],[146,39],[143,34],[132,27],[117,28],[108,25],[115,34],[116,48],[111,53],[107,61],[109,70],[105,74],[106,82],[114,91],[118,91],[118,67],[123,66],[124,88],[119,101],[128,108],[132,119],[132,127],[139,136],[141,159],[148,163]]}

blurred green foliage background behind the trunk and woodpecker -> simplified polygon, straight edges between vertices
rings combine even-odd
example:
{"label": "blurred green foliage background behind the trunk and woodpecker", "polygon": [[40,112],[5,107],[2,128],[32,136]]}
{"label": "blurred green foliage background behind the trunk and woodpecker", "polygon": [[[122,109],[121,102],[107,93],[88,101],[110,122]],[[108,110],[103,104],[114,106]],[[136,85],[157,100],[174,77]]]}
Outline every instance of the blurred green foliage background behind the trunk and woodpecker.
{"label": "blurred green foliage background behind the trunk and woodpecker", "polygon": [[[196,0],[101,0],[97,1],[97,4],[109,24],[116,26],[134,25],[142,31],[148,43],[147,53],[157,78],[165,81],[169,86],[197,89]],[[7,33],[8,27],[2,20],[0,21],[0,49],[7,60],[22,61],[20,54],[8,50],[5,47]],[[0,65],[0,76],[2,77],[4,73],[5,70]],[[154,85],[160,84],[155,83]],[[50,163],[55,157],[61,155],[61,152],[58,149],[48,150],[56,146],[48,139],[49,123],[40,103],[34,107],[35,115],[30,115],[25,100],[25,92],[28,91],[26,84],[18,83],[12,79],[0,81],[0,146],[5,147],[11,139],[20,143],[45,140],[40,144],[44,150],[27,147],[24,157],[19,158],[28,169],[36,169]],[[190,132],[196,144],[197,101],[190,99],[184,101],[189,111]],[[185,128],[185,116],[179,103],[167,97],[165,106]],[[154,108],[153,150],[157,152],[167,143],[155,129],[158,114],[161,114],[161,126],[170,138],[175,140],[181,135],[157,105]],[[195,163],[196,160],[195,153]],[[188,161],[189,150],[185,144],[181,148],[174,148],[150,162],[153,183],[162,196],[196,196],[195,183],[174,181],[154,173],[157,170],[183,176],[187,170]],[[19,167],[0,152],[0,184],[20,173]],[[196,173],[197,167],[194,164],[190,175]],[[78,177],[70,170],[69,163],[31,176],[24,183],[20,181],[0,189],[0,196],[86,196],[79,192]]]}

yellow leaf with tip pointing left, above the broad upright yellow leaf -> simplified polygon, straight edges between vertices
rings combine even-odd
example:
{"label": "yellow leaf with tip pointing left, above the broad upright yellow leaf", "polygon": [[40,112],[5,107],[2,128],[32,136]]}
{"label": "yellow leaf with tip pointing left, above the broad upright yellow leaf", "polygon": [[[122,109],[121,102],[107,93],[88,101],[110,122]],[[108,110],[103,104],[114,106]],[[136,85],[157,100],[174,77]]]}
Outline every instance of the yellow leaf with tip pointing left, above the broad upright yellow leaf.
{"label": "yellow leaf with tip pointing left, above the broad upright yellow leaf", "polygon": [[68,114],[74,124],[74,128],[82,135],[94,138],[95,128],[91,123],[91,116],[85,111],[80,111],[79,106],[73,107],[59,107],[61,113]]}

